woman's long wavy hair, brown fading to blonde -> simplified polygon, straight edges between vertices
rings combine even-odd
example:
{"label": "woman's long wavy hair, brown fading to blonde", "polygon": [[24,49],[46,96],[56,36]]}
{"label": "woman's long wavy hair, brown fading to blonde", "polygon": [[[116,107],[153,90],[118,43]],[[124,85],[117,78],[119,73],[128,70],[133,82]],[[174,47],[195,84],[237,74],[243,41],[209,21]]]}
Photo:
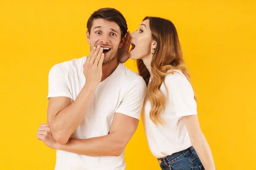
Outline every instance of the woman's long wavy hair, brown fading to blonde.
{"label": "woman's long wavy hair, brown fading to blonde", "polygon": [[138,73],[143,77],[146,85],[148,86],[145,101],[148,99],[151,104],[149,117],[154,124],[159,123],[163,125],[160,113],[163,113],[166,100],[165,96],[160,91],[160,87],[163,83],[166,88],[166,84],[164,82],[166,75],[173,74],[174,69],[177,69],[182,71],[189,82],[190,76],[185,66],[177,30],[174,24],[170,20],[160,17],[145,17],[143,21],[144,20],[149,20],[152,40],[157,42],[157,47],[154,49],[151,61],[151,72],[153,78],[150,84],[148,85],[150,73],[142,59],[137,60]]}

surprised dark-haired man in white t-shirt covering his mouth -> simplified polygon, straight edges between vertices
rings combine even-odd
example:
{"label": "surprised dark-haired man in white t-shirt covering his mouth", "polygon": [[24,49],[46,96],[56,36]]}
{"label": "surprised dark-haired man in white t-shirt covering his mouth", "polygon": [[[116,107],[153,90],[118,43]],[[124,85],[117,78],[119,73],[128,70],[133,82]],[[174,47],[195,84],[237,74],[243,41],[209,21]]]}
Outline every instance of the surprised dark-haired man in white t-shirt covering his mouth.
{"label": "surprised dark-haired man in white t-shirt covering his mouth", "polygon": [[37,137],[57,149],[55,170],[125,170],[146,91],[143,78],[117,60],[126,33],[119,11],[99,9],[87,22],[90,55],[49,71],[48,124]]}

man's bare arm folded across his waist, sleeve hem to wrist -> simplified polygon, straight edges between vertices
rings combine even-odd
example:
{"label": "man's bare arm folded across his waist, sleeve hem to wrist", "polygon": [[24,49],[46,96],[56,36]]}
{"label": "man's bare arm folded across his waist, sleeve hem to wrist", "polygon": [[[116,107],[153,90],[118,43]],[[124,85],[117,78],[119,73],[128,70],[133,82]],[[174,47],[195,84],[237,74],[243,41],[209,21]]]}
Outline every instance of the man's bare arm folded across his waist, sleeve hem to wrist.
{"label": "man's bare arm folded across his waist, sleeve hem to wrist", "polygon": [[125,149],[139,124],[139,120],[115,113],[110,133],[90,139],[70,138],[66,144],[56,144],[55,149],[87,156],[119,156]]}

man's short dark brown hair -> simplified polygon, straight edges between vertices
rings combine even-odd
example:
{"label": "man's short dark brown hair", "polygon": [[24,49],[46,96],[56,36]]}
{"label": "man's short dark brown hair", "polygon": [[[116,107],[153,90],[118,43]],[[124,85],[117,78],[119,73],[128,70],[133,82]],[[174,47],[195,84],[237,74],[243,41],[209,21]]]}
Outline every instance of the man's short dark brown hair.
{"label": "man's short dark brown hair", "polygon": [[117,11],[114,8],[101,8],[93,14],[91,14],[90,18],[87,21],[87,30],[90,34],[93,20],[94,19],[104,19],[107,21],[113,21],[115,22],[121,29],[121,38],[125,36],[127,33],[128,27],[125,20],[125,17],[121,14],[121,12]]}

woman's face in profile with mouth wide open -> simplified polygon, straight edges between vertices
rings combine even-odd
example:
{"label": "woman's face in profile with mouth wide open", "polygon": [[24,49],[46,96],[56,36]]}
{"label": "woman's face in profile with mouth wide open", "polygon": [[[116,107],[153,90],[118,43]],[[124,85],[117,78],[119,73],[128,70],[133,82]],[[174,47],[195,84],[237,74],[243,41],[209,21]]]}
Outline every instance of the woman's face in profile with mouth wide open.
{"label": "woman's face in profile with mouth wide open", "polygon": [[143,57],[151,54],[151,31],[149,28],[149,20],[143,21],[138,30],[131,33],[131,59],[143,59]]}

